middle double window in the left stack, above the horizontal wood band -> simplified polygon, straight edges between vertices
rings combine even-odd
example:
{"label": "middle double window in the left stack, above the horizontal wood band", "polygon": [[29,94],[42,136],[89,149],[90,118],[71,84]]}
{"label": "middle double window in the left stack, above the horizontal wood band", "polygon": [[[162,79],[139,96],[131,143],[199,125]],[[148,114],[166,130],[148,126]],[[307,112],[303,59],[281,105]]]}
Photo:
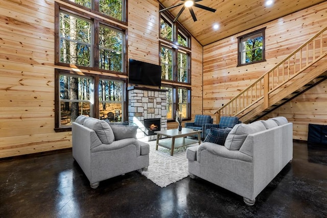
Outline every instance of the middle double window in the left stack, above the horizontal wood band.
{"label": "middle double window in the left stack, above the horizontal wood band", "polygon": [[[108,21],[96,17],[78,16],[76,10],[56,3],[59,8],[56,65],[80,66],[85,69],[102,69],[124,72],[125,30],[113,28]],[[68,12],[69,11],[69,12]],[[58,44],[58,45],[57,45]]]}

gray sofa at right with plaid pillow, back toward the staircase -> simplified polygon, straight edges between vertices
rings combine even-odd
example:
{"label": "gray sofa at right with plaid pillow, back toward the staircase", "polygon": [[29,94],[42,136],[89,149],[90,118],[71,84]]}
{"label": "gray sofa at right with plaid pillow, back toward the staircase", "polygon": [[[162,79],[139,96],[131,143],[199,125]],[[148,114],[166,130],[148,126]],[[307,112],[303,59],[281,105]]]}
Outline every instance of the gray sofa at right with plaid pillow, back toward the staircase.
{"label": "gray sofa at right with plaid pillow, back toward the staircase", "polygon": [[242,196],[247,205],[293,158],[293,124],[285,117],[237,124],[221,146],[203,142],[186,151],[196,176]]}

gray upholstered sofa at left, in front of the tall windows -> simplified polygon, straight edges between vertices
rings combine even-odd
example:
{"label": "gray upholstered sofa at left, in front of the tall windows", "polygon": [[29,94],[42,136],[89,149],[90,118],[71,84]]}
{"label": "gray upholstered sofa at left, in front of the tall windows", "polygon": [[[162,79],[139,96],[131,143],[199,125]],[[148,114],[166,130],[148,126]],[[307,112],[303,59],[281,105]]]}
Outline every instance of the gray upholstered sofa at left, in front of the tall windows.
{"label": "gray upholstered sofa at left, in front of the tall windows", "polygon": [[109,125],[79,116],[72,126],[73,157],[92,188],[100,181],[149,166],[149,144],[136,140],[136,126]]}

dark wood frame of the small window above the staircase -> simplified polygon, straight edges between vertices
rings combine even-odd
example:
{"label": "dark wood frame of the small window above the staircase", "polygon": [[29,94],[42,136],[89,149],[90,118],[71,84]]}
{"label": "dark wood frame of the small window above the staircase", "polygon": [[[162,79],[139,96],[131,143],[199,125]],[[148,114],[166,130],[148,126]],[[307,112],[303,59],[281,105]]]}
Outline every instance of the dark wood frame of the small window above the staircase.
{"label": "dark wood frame of the small window above the staircase", "polygon": [[[260,63],[260,62],[266,61],[266,55],[265,55],[265,53],[266,53],[266,49],[265,49],[265,41],[266,41],[265,32],[266,31],[265,30],[266,30],[266,27],[237,37],[237,39],[238,39],[238,58],[237,58],[238,64],[237,64],[237,66],[244,66],[244,65],[248,65],[248,64],[255,64],[255,63]],[[261,34],[262,37],[263,37],[262,60],[253,61],[253,62],[249,62],[249,63],[241,63],[241,58],[242,58],[242,53],[243,53],[242,52],[242,48],[243,48],[242,41],[243,41],[243,39],[249,38],[251,36],[255,36],[255,35],[258,35],[258,34]]]}

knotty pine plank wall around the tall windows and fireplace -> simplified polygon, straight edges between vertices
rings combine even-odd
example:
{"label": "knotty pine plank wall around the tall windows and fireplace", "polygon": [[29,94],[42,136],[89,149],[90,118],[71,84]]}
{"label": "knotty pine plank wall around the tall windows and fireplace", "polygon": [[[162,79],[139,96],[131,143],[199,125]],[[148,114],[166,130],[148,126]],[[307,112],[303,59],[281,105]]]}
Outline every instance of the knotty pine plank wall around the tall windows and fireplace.
{"label": "knotty pine plank wall around the tall windows and fireplace", "polygon": [[[72,147],[71,132],[54,131],[54,68],[64,68],[54,66],[55,2],[66,4],[0,0],[0,158]],[[159,4],[128,2],[128,58],[158,63]],[[192,108],[201,113],[202,46],[192,44]]]}

